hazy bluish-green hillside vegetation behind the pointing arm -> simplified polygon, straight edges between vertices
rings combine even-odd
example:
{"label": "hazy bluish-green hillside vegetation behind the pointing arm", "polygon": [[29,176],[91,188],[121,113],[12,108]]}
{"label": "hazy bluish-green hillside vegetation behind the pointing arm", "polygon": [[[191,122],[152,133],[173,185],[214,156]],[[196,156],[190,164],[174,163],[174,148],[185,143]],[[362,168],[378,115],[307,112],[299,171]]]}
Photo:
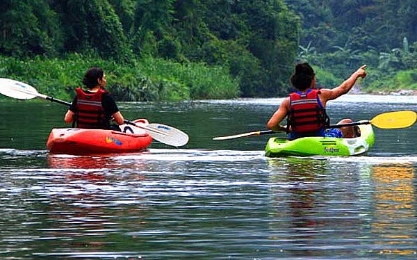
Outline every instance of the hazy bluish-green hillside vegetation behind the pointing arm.
{"label": "hazy bluish-green hillside vegetation behind the pointing arm", "polygon": [[417,90],[417,1],[286,0],[302,19],[299,60],[340,81],[368,65],[364,90]]}

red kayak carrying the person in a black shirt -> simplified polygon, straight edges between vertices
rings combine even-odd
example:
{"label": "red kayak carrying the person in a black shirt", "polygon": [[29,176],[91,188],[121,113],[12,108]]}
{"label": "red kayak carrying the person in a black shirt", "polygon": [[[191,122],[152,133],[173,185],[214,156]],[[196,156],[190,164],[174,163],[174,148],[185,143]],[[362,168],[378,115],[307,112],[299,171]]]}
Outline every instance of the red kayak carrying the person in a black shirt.
{"label": "red kayak carrying the person in a black shirt", "polygon": [[[149,124],[145,119],[133,122]],[[47,149],[51,154],[113,154],[141,152],[152,142],[152,137],[144,129],[130,124],[123,124],[120,129],[121,132],[104,129],[52,129]]]}

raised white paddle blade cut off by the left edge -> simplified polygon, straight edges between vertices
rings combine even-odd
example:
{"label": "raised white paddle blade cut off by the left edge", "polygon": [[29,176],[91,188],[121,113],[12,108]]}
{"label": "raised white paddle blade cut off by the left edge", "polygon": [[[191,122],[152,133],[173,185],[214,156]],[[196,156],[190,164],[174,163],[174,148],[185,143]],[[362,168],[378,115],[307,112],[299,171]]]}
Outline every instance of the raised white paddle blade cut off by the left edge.
{"label": "raised white paddle blade cut off by the left edge", "polygon": [[0,78],[0,93],[15,99],[33,99],[39,93],[32,86],[13,79]]}

